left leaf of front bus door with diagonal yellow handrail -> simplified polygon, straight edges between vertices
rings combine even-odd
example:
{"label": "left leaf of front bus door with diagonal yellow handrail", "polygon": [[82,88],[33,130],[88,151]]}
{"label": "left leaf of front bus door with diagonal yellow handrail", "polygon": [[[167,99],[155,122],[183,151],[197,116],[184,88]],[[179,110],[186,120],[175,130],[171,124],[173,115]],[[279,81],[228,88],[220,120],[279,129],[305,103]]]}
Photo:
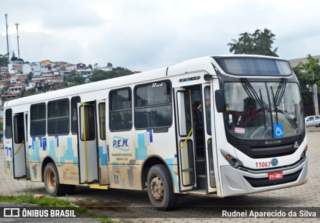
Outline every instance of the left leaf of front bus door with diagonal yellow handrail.
{"label": "left leaf of front bus door with diagonal yellow handrail", "polygon": [[174,88],[179,182],[181,192],[196,189],[190,93]]}

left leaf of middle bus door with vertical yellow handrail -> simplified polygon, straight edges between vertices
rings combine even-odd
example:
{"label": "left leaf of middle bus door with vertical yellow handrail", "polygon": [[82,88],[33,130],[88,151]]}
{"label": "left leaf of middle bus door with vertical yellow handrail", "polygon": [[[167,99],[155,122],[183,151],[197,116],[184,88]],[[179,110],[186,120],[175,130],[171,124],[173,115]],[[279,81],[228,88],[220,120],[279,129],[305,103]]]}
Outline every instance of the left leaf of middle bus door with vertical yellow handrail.
{"label": "left leaf of middle bus door with vertical yellow handrail", "polygon": [[79,183],[98,182],[96,149],[95,103],[81,102],[78,106]]}

